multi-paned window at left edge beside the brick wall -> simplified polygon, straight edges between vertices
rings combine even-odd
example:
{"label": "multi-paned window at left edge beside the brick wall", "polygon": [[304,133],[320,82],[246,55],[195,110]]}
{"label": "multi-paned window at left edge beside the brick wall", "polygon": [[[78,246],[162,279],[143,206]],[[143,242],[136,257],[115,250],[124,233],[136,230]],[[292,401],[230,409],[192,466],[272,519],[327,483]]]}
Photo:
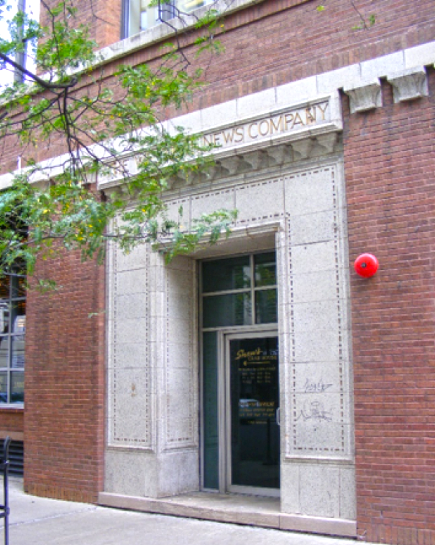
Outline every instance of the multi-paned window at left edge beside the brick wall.
{"label": "multi-paned window at left edge beside the brick wall", "polygon": [[0,278],[0,403],[24,401],[25,277]]}

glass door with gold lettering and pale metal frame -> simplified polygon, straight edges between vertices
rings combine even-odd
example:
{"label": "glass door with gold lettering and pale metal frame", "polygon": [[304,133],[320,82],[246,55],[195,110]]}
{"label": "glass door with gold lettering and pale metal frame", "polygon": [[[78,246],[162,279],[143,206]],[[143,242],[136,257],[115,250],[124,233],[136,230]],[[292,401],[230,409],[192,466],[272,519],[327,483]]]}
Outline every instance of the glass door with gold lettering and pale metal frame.
{"label": "glass door with gold lettering and pale metal frame", "polygon": [[279,495],[278,337],[228,335],[226,353],[228,490]]}

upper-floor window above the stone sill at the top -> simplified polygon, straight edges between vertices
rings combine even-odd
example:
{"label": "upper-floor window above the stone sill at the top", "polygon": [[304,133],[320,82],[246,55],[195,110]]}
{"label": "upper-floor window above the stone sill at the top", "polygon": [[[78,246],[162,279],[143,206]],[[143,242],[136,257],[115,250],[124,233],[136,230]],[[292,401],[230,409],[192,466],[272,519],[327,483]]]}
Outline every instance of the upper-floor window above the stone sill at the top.
{"label": "upper-floor window above the stone sill at the top", "polygon": [[174,19],[178,14],[190,13],[213,0],[171,0],[150,6],[151,0],[123,0],[122,38]]}

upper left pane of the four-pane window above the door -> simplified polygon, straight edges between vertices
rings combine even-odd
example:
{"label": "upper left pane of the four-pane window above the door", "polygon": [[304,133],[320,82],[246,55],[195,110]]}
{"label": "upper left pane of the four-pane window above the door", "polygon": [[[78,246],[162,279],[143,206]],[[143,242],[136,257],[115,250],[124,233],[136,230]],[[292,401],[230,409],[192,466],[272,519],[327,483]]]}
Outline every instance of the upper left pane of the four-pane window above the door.
{"label": "upper left pane of the four-pane window above the door", "polygon": [[251,283],[249,257],[233,257],[202,263],[202,291],[223,292],[248,288]]}

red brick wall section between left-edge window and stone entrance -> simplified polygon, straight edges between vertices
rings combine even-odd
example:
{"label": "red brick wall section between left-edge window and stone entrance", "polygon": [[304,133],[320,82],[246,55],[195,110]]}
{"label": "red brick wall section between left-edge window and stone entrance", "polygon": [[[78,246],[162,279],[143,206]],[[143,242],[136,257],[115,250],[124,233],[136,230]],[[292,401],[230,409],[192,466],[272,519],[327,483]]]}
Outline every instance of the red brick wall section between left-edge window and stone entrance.
{"label": "red brick wall section between left-edge window and stone entrance", "polygon": [[58,289],[28,293],[25,489],[93,502],[104,467],[104,267],[71,252],[40,263],[37,276],[47,272]]}

